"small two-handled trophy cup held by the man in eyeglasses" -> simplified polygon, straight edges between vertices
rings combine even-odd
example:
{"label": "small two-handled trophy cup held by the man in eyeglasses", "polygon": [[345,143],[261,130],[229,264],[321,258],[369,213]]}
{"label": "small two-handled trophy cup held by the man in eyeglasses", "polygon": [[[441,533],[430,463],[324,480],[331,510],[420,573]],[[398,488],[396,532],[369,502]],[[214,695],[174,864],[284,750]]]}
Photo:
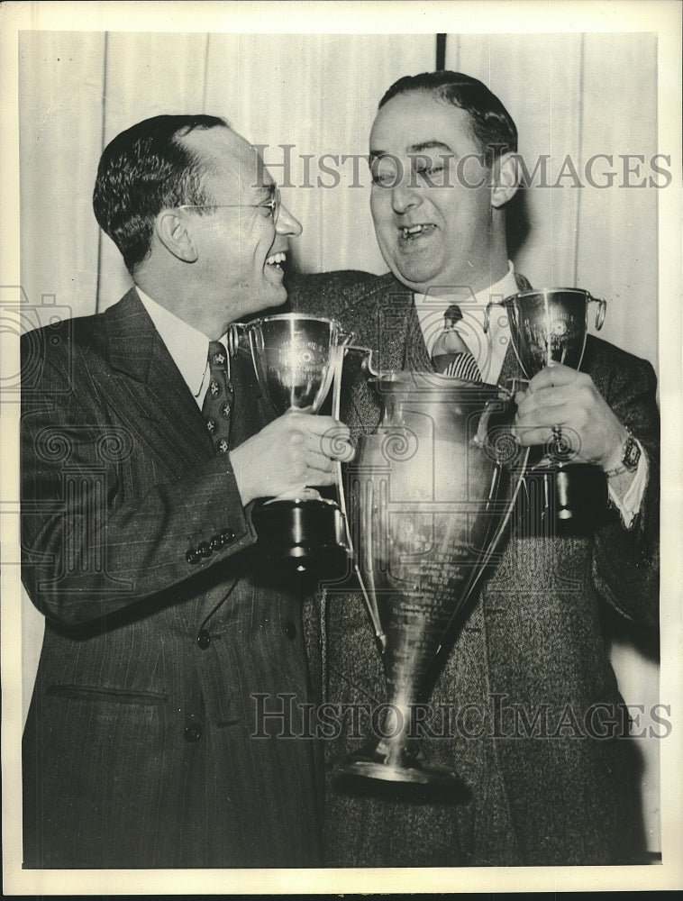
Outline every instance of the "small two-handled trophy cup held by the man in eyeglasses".
{"label": "small two-handled trophy cup held by the man in eyeglasses", "polygon": [[[246,333],[251,359],[264,396],[278,415],[315,414],[334,386],[332,405],[339,416],[343,346],[351,335],[332,319],[305,314],[265,316],[239,329]],[[338,491],[341,492],[338,466]],[[315,492],[264,499],[251,514],[259,548],[271,561],[304,570],[346,560],[347,530],[338,500]],[[339,495],[338,495],[339,496]]]}

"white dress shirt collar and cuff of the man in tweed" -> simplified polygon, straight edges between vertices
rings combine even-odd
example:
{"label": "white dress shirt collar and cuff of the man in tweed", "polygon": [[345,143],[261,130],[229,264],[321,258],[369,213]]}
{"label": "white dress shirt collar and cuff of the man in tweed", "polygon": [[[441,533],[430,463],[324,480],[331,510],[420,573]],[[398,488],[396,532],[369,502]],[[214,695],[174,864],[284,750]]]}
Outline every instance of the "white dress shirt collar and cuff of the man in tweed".
{"label": "white dress shirt collar and cuff of the man in tweed", "polygon": [[[441,292],[439,296],[416,294],[414,296],[417,318],[422,328],[424,342],[427,350],[432,355],[434,342],[443,331],[443,314],[451,304],[457,304],[462,313],[462,319],[456,323],[455,331],[468,346],[474,358],[477,360],[481,378],[496,385],[500,371],[503,368],[505,353],[510,344],[510,325],[507,321],[505,308],[500,306],[490,307],[488,331],[484,332],[484,321],[489,302],[496,304],[518,292],[515,280],[515,268],[512,262],[508,263],[505,276],[491,287],[484,288],[475,294],[471,288],[460,288],[452,293]],[[622,516],[626,528],[633,525],[638,511],[641,508],[642,495],[647,483],[648,461],[642,445],[641,459],[638,469],[633,477],[624,497],[620,497],[607,480],[607,487],[612,503]]]}

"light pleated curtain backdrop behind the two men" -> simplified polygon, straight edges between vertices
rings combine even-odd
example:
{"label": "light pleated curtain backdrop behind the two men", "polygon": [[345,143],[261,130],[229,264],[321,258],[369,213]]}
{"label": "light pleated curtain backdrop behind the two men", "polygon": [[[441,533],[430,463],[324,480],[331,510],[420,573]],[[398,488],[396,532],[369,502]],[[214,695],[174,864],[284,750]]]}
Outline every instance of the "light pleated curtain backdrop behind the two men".
{"label": "light pleated curtain backdrop behind the two men", "polygon": [[[124,128],[161,113],[223,115],[268,145],[266,163],[304,225],[294,258],[304,271],[387,270],[369,215],[369,178],[351,157],[368,151],[378,100],[406,74],[435,65],[436,36],[23,32],[20,35],[21,252],[31,304],[75,315],[115,303],[130,285],[114,244],[92,213],[97,160]],[[505,103],[529,171],[550,156],[553,184],[524,192],[515,216],[515,264],[536,287],[578,286],[607,300],[603,336],[658,368],[657,190],[624,187],[621,156],[651,175],[657,147],[656,43],[647,33],[450,34],[446,67],[480,78]],[[291,145],[289,171],[282,168]],[[669,149],[671,152],[671,149]],[[620,174],[591,187],[587,160],[611,154]],[[338,158],[335,164],[324,154]],[[308,173],[305,160],[308,159]],[[339,184],[319,161],[339,175]],[[280,165],[278,165],[280,164]],[[605,162],[596,175],[610,168]],[[636,167],[637,169],[637,167]],[[287,181],[288,174],[288,181]],[[318,187],[317,179],[323,185]],[[662,178],[659,178],[660,183]],[[305,186],[305,187],[303,187]],[[309,187],[311,186],[311,187]],[[359,187],[360,186],[360,187]],[[23,599],[25,703],[42,622]],[[637,635],[613,636],[612,657],[628,701],[658,696],[658,668]],[[656,740],[639,740],[650,848],[659,849]]]}

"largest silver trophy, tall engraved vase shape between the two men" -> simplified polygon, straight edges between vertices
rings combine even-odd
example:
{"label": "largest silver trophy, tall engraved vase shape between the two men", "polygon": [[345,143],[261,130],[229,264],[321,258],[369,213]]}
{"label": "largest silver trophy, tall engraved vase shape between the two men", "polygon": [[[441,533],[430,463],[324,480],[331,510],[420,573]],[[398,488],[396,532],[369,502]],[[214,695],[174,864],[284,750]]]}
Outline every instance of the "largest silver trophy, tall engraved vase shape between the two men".
{"label": "largest silver trophy, tall engraved vase shape between the two men", "polygon": [[378,734],[336,770],[342,782],[460,786],[427,762],[415,705],[438,651],[488,565],[515,502],[526,451],[514,408],[492,386],[435,373],[373,373],[383,404],[348,469],[355,565],[387,678]]}

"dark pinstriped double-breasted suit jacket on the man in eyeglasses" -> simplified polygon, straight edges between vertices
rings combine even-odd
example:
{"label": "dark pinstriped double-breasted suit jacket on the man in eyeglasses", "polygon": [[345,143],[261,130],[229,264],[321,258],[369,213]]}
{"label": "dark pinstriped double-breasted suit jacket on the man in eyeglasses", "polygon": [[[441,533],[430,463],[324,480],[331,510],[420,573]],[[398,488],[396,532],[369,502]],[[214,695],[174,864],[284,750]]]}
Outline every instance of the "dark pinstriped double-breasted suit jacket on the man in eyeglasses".
{"label": "dark pinstriped double-breasted suit jacket on the man in eyeglasses", "polygon": [[[46,617],[24,866],[315,865],[312,743],[257,722],[308,697],[300,588],[251,556],[230,461],[140,298],[29,333],[23,364],[23,579]],[[235,446],[273,413],[241,353],[232,384]]]}

